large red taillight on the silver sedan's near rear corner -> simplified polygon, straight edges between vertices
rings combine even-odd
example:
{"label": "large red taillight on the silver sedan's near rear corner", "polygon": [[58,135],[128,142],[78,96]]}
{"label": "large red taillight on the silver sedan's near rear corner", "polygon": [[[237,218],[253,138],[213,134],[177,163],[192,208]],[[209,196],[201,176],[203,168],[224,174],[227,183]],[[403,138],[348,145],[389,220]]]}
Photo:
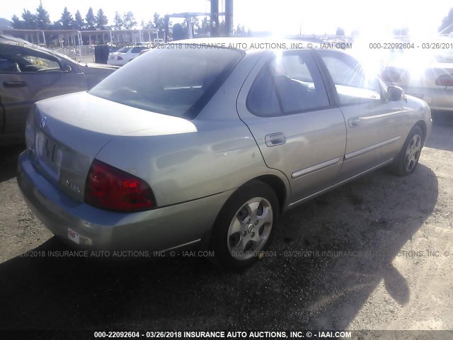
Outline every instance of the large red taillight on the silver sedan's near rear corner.
{"label": "large red taillight on the silver sedan's near rear corner", "polygon": [[147,183],[97,159],[91,164],[86,178],[85,201],[96,208],[119,212],[156,208]]}

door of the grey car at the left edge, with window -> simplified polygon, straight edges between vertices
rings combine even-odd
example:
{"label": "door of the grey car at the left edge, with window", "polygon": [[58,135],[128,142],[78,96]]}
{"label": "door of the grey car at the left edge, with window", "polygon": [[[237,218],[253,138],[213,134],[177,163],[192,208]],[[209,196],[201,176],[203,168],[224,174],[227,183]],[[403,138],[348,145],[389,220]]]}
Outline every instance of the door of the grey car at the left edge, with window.
{"label": "door of the grey car at the left edge, with window", "polygon": [[28,111],[36,101],[86,90],[84,74],[78,68],[63,71],[56,57],[39,50],[11,45],[0,50],[0,61],[13,65],[0,68],[5,134],[23,132]]}

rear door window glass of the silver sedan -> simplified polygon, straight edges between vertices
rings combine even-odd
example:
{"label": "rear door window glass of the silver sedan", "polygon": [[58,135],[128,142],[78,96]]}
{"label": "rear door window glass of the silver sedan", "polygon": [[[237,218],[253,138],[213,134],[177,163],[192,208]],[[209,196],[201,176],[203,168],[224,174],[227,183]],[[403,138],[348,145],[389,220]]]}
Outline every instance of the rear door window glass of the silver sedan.
{"label": "rear door window glass of the silver sedan", "polygon": [[256,77],[248,110],[261,117],[320,110],[330,105],[323,79],[309,51],[277,55]]}

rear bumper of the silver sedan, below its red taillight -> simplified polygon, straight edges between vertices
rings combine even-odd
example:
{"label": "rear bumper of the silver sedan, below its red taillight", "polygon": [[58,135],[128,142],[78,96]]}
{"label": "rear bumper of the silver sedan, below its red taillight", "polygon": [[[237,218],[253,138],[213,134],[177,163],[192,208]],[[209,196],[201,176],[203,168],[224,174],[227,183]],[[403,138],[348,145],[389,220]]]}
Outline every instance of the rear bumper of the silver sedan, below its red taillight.
{"label": "rear bumper of the silver sedan, below its red taillight", "polygon": [[80,203],[47,181],[30,162],[18,159],[18,186],[28,207],[50,229],[68,239],[69,228],[96,249],[178,248],[200,242],[232,191],[144,212],[110,212]]}

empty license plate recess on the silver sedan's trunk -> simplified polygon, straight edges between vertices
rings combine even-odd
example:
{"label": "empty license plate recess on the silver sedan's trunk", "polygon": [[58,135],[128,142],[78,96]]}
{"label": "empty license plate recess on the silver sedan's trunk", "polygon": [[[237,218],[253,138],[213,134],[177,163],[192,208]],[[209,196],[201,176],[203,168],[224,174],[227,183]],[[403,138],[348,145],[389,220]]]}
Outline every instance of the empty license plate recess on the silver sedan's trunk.
{"label": "empty license plate recess on the silver sedan's trunk", "polygon": [[36,148],[41,166],[50,176],[59,181],[63,159],[62,148],[43,132],[38,132],[36,135]]}

